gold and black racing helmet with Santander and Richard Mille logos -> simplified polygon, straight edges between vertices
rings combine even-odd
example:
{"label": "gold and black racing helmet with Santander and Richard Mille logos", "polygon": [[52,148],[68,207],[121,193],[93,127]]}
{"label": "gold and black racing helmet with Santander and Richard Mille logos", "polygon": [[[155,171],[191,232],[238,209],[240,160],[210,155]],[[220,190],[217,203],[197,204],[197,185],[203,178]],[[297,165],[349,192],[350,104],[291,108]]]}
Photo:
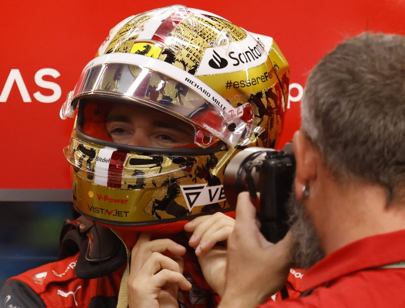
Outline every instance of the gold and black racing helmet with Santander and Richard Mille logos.
{"label": "gold and black racing helmet with Santander and Richard Mille logos", "polygon": [[[274,144],[288,89],[289,65],[269,36],[180,5],[121,21],[61,109],[63,119],[77,110],[64,148],[75,208],[99,223],[152,228],[233,211],[224,169],[242,148]],[[125,134],[109,129],[116,109],[153,114],[149,122],[165,114],[160,125],[180,121],[192,137],[175,147],[114,138]]]}

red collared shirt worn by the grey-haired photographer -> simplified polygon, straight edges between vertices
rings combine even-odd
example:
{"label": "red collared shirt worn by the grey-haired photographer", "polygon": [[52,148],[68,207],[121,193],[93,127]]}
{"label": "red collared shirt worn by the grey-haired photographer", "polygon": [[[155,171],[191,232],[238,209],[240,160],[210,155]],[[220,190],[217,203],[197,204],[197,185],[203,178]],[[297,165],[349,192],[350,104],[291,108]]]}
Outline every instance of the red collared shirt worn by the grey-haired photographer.
{"label": "red collared shirt worn by the grey-haired photographer", "polygon": [[[300,292],[307,296],[272,307],[405,307],[405,230],[358,240],[327,255],[302,277]],[[393,264],[397,268],[382,268]]]}

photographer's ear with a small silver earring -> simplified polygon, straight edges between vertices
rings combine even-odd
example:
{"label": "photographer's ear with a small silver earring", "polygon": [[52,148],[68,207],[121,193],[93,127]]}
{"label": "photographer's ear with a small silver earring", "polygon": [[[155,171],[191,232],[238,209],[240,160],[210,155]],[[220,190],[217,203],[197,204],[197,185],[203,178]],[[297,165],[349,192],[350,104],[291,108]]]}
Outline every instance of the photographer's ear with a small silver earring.
{"label": "photographer's ear with a small silver earring", "polygon": [[318,152],[301,131],[294,134],[293,150],[296,161],[295,194],[297,199],[302,200],[307,198],[303,197],[303,187],[316,178]]}

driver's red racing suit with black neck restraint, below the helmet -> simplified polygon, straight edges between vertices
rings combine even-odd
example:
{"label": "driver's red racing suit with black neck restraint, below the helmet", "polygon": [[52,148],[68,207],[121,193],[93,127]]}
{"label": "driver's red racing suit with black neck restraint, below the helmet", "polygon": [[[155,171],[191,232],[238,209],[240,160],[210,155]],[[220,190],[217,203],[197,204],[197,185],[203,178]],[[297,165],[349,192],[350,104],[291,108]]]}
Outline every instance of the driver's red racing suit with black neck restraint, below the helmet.
{"label": "driver's red racing suit with black neck restraint, below the helmet", "polygon": [[[60,258],[10,278],[0,307],[116,307],[127,252],[110,229],[82,217],[68,223],[62,230]],[[216,307],[219,297],[204,280],[194,250],[183,258],[184,276],[193,287],[179,293],[179,308]]]}

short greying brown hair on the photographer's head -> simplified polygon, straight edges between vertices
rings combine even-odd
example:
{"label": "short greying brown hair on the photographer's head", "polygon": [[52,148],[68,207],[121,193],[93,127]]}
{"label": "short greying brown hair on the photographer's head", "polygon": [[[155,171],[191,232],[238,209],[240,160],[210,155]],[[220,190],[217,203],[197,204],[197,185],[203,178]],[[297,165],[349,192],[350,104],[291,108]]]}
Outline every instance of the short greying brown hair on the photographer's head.
{"label": "short greying brown hair on the photographer's head", "polygon": [[362,33],[308,78],[301,130],[337,180],[378,183],[388,204],[405,192],[405,36]]}

